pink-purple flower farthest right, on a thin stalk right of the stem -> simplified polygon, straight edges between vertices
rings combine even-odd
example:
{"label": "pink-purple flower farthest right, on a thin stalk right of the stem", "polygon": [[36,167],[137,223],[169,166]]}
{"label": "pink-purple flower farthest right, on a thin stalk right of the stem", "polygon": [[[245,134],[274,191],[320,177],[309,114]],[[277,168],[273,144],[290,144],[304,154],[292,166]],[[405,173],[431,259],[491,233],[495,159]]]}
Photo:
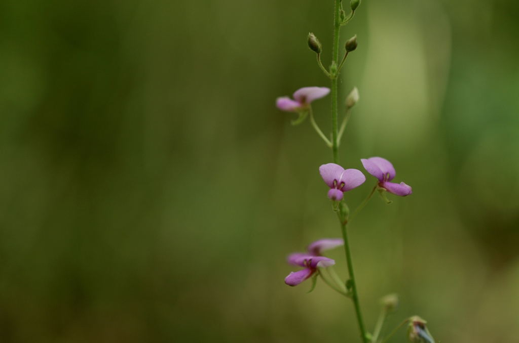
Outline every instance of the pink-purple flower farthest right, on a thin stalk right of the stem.
{"label": "pink-purple flower farthest right, on a thin stalk right of the stem", "polygon": [[393,165],[388,160],[381,157],[372,157],[369,159],[361,159],[361,161],[364,168],[366,168],[366,171],[378,179],[378,185],[380,188],[385,189],[389,193],[400,196],[406,196],[413,193],[411,186],[404,182],[389,182],[394,178],[396,172],[394,171]]}

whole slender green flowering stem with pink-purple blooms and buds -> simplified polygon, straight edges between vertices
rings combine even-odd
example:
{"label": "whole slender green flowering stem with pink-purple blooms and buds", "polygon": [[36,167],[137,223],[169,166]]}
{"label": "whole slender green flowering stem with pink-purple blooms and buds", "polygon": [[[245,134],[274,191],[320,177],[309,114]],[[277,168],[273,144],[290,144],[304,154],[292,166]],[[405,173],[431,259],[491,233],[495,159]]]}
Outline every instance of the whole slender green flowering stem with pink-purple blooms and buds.
{"label": "whole slender green flowering stem with pink-purple blooms and buds", "polygon": [[[353,90],[348,94],[348,96],[345,99],[344,105],[346,111],[342,116],[342,124],[340,124],[339,126],[337,88],[338,81],[340,79],[338,78],[338,75],[340,69],[343,67],[344,62],[346,61],[348,53],[356,50],[358,46],[357,35],[348,39],[344,46],[346,52],[344,54],[343,59],[339,62],[339,28],[340,26],[346,25],[353,18],[354,12],[359,7],[360,2],[361,0],[350,0],[351,12],[347,16],[347,12],[343,10],[343,1],[335,1],[333,39],[334,56],[329,69],[326,69],[321,62],[321,42],[313,33],[308,34],[308,47],[310,48],[310,50],[317,54],[317,64],[321,68],[324,75],[328,77],[332,83],[331,135],[325,135],[323,133],[323,131],[317,124],[315,117],[313,116],[312,107],[310,105],[316,99],[323,98],[324,96],[329,94],[331,92],[329,88],[304,87],[295,91],[295,93],[293,94],[293,98],[290,98],[288,96],[282,96],[276,99],[277,108],[279,108],[282,111],[297,113],[298,118],[292,120],[292,125],[301,124],[306,119],[306,117],[309,117],[310,124],[313,126],[317,134],[322,138],[325,144],[333,151],[333,158],[334,162],[336,163],[327,163],[321,165],[319,167],[319,173],[324,183],[326,183],[327,187],[329,188],[327,196],[333,201],[332,208],[339,219],[344,238],[320,239],[311,243],[307,247],[306,252],[296,252],[290,254],[287,257],[286,261],[289,264],[302,267],[302,269],[292,271],[288,276],[285,277],[285,283],[289,286],[295,286],[309,278],[312,278],[313,283],[312,288],[310,290],[312,291],[316,285],[317,277],[320,276],[323,279],[323,282],[329,285],[333,290],[337,291],[338,293],[346,297],[351,298],[354,304],[358,326],[360,330],[360,337],[363,343],[380,341],[386,342],[405,323],[408,323],[407,338],[409,339],[409,341],[411,341],[412,343],[434,343],[434,339],[432,338],[431,334],[429,333],[429,330],[425,326],[426,322],[417,316],[408,318],[401,325],[399,325],[396,330],[393,330],[393,332],[385,339],[379,339],[379,335],[381,333],[384,321],[388,313],[394,311],[398,306],[398,296],[395,294],[391,294],[383,298],[383,301],[381,303],[383,305],[383,308],[381,309],[379,320],[377,321],[373,334],[370,334],[366,331],[360,311],[357,283],[355,281],[353,273],[353,264],[351,261],[351,253],[347,239],[347,225],[353,218],[357,216],[359,211],[364,208],[368,201],[370,201],[375,191],[379,192],[379,195],[384,199],[384,201],[387,204],[390,204],[391,201],[387,198],[386,193],[392,193],[398,196],[407,196],[413,193],[411,186],[405,184],[404,182],[390,182],[394,179],[396,175],[396,172],[391,162],[381,157],[371,157],[368,159],[361,159],[362,165],[364,166],[364,169],[366,169],[367,173],[374,176],[377,179],[375,185],[372,187],[371,192],[368,193],[364,201],[351,213],[348,205],[346,204],[346,202],[343,201],[345,198],[345,192],[359,187],[366,181],[366,176],[363,174],[362,171],[352,168],[345,169],[337,164],[339,156],[338,148],[342,140],[346,125],[348,124],[351,109],[359,101],[359,91],[357,88],[353,88]],[[346,280],[346,282],[343,282],[343,280],[337,274],[335,274],[334,269],[331,268],[331,266],[335,264],[335,261],[322,255],[323,251],[333,249],[335,247],[342,245],[345,246],[346,260],[348,265],[348,279]],[[326,270],[327,273],[322,272],[322,268],[325,267],[330,267]],[[327,279],[325,274],[328,274],[332,278],[332,280]]]}

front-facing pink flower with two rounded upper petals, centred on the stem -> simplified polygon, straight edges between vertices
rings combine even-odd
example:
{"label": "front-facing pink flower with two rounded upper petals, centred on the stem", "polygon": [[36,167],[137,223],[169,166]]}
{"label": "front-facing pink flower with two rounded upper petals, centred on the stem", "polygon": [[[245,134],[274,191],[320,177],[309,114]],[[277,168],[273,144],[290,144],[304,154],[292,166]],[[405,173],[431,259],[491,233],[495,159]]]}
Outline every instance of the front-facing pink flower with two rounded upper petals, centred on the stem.
{"label": "front-facing pink flower with two rounded upper petals, centred on the stem", "polygon": [[328,197],[337,201],[343,198],[344,192],[359,187],[366,181],[362,171],[357,169],[345,170],[335,163],[323,164],[319,167],[319,173],[321,173],[324,182],[330,187]]}

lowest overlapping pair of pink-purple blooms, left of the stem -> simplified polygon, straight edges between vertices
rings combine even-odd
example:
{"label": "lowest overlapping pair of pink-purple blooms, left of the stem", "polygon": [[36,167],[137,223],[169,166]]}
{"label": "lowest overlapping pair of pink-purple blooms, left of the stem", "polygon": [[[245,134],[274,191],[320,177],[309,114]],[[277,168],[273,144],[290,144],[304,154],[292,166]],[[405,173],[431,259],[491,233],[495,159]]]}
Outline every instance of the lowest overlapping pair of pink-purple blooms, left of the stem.
{"label": "lowest overlapping pair of pink-purple blooms, left of the stem", "polygon": [[315,274],[318,267],[329,267],[334,265],[335,261],[322,256],[322,251],[330,250],[343,244],[344,241],[339,238],[320,239],[308,246],[308,252],[296,252],[290,254],[286,259],[286,262],[304,267],[304,269],[292,271],[285,278],[285,283],[289,286],[298,285]]}

